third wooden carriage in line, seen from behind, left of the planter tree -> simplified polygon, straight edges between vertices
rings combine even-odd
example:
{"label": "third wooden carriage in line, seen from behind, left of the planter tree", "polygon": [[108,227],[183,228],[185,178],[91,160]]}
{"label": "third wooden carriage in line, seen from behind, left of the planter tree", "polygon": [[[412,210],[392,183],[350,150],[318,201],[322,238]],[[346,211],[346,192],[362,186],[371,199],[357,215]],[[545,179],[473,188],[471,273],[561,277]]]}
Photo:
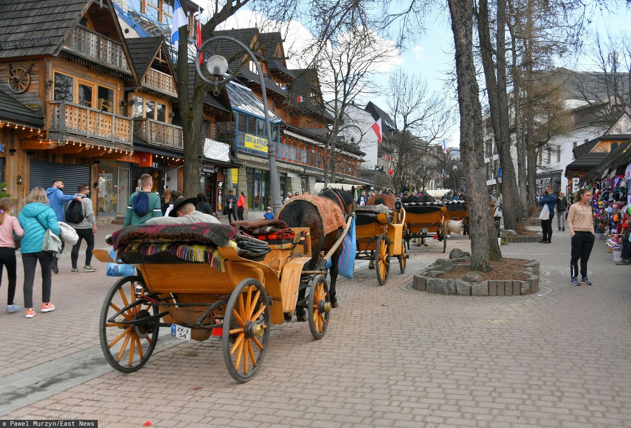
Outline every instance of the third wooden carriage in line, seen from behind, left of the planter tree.
{"label": "third wooden carriage in line, seen from behind, left of the planter tree", "polygon": [[405,240],[410,247],[411,239],[433,238],[439,235],[442,239],[442,252],[447,249],[447,233],[449,232],[449,215],[442,202],[410,202],[404,203],[406,211]]}

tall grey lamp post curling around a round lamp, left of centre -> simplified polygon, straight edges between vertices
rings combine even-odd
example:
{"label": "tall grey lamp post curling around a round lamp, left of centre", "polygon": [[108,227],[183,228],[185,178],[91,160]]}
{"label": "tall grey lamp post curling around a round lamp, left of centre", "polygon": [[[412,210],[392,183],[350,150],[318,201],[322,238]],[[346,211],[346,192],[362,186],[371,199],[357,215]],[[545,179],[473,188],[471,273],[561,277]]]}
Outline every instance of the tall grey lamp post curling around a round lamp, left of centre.
{"label": "tall grey lamp post curling around a round lamp, left of centre", "polygon": [[202,45],[198,47],[197,50],[197,55],[195,58],[195,69],[197,70],[199,77],[201,77],[204,82],[215,87],[215,95],[219,94],[220,87],[225,86],[226,84],[228,84],[228,82],[232,81],[232,79],[236,77],[235,75],[231,74],[230,76],[223,78],[223,76],[225,76],[226,72],[228,71],[228,61],[221,55],[213,55],[208,59],[208,62],[206,63],[206,69],[208,70],[209,74],[211,74],[211,76],[216,77],[215,80],[211,81],[209,79],[206,79],[206,76],[204,76],[204,74],[201,72],[201,69],[199,68],[199,55],[201,55],[204,47],[206,47],[209,42],[214,42],[215,40],[227,40],[228,42],[236,43],[237,45],[239,45],[239,47],[245,50],[245,52],[247,52],[252,62],[254,62],[254,64],[256,65],[256,71],[261,81],[263,110],[265,112],[265,127],[268,136],[269,191],[271,192],[272,196],[272,207],[274,215],[278,215],[278,211],[280,210],[280,207],[283,205],[283,203],[281,201],[280,195],[280,179],[278,178],[278,172],[276,171],[276,143],[272,138],[272,131],[270,126],[271,123],[269,123],[268,96],[265,91],[265,82],[263,81],[263,74],[261,72],[259,60],[256,59],[254,53],[252,53],[252,51],[246,45],[244,45],[244,43],[232,37],[215,36],[209,38],[208,40],[206,40],[206,42],[202,43]]}

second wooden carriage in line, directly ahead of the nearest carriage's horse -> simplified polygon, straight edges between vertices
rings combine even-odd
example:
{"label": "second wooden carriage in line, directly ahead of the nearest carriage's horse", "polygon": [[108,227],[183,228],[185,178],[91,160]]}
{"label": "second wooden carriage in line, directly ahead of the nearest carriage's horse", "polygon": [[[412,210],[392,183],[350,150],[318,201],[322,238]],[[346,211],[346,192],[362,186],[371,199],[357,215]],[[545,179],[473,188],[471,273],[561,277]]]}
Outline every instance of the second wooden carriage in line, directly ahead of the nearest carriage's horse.
{"label": "second wooden carriage in line, directly ahead of the nearest carriage's horse", "polygon": [[399,269],[405,273],[408,255],[403,239],[406,212],[398,202],[394,211],[384,212],[383,206],[357,206],[355,208],[355,259],[370,260],[377,272],[377,282],[384,285],[390,273],[390,257],[399,259]]}

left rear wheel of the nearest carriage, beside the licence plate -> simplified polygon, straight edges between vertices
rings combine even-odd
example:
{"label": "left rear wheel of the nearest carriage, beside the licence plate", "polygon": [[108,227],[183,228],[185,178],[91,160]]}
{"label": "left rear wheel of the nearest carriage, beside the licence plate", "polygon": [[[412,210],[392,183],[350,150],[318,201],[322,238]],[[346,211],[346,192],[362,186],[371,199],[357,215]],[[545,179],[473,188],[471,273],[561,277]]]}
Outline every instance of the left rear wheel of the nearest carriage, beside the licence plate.
{"label": "left rear wheel of the nearest carriage, beside the licence plate", "polygon": [[[139,276],[126,276],[119,279],[110,288],[101,308],[99,337],[101,349],[110,366],[131,373],[149,360],[158,341],[160,327],[143,323],[143,318],[158,314],[158,305],[143,303],[121,313],[114,321],[109,318],[122,308],[137,300],[138,296],[148,293]],[[137,321],[132,325],[119,324],[116,321]],[[154,320],[155,322],[156,320]]]}

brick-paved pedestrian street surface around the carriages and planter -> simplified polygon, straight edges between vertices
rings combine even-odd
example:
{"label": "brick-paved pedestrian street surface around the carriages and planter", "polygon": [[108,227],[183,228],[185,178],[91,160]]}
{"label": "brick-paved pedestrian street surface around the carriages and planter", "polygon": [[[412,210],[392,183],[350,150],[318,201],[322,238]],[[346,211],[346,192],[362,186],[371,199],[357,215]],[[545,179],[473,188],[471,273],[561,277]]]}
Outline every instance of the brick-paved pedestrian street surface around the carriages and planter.
{"label": "brick-paved pedestrian street surface around the carriages and planter", "polygon": [[[274,328],[246,384],[228,375],[215,337],[161,337],[144,368],[112,371],[97,323],[114,281],[98,261],[97,273],[70,275],[64,254],[57,310],[32,320],[0,313],[0,415],[81,417],[102,427],[631,426],[631,268],[615,266],[596,241],[594,285],[571,286],[569,235],[555,231],[553,240],[502,247],[505,256],[541,261],[542,291],[531,296],[408,291],[411,274],[444,257],[437,242],[413,247],[406,274],[393,264],[386,286],[357,262],[355,278],[338,283],[340,306],[324,339],[312,340],[306,323]],[[447,250],[454,247],[468,249],[469,240],[455,237]],[[18,263],[21,291],[20,271]]]}

